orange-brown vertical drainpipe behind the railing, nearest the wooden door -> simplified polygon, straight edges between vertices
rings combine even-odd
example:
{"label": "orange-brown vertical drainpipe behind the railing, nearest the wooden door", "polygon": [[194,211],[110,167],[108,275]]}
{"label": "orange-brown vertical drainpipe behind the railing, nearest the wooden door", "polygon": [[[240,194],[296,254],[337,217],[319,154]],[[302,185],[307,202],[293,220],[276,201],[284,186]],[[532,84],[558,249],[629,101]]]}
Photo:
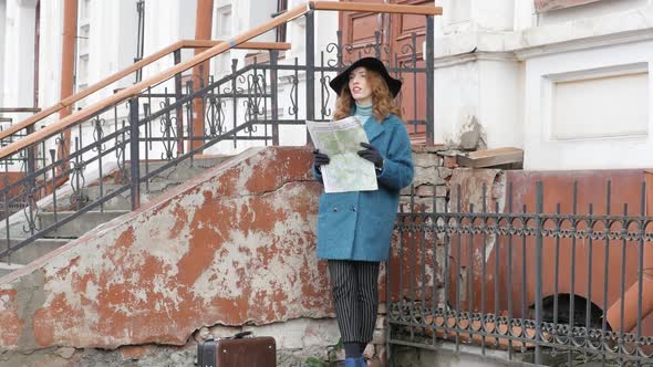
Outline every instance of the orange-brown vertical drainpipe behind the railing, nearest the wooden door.
{"label": "orange-brown vertical drainpipe behind the railing, nearest the wooden door", "polygon": [[[214,17],[214,0],[197,0],[197,12],[195,15],[195,39],[210,40],[211,24]],[[206,49],[195,49],[195,54],[199,54]],[[197,91],[208,84],[209,61],[205,61],[193,69],[193,85]],[[204,136],[204,99],[195,98],[193,102],[193,135]],[[190,140],[188,150],[198,148],[204,145],[200,140]]]}

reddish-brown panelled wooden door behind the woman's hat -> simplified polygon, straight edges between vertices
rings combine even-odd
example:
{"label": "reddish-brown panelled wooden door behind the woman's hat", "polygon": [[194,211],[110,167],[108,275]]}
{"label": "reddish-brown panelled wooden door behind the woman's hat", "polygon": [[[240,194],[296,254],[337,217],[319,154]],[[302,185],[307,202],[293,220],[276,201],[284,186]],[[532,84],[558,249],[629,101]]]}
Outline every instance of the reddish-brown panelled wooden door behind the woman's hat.
{"label": "reddish-brown panelled wooden door behind the woman's hat", "polygon": [[[433,0],[341,0],[349,2],[379,2],[433,6]],[[426,35],[426,18],[411,14],[379,14],[341,12],[342,43],[351,44],[351,52],[343,52],[345,63],[361,56],[379,55],[386,65],[398,69],[423,69],[423,43]],[[379,31],[379,35],[375,35]],[[415,36],[413,36],[415,34]],[[374,45],[379,42],[379,46]],[[426,117],[426,77],[424,72],[395,71],[394,77],[403,80],[397,103],[413,144],[425,144],[426,127],[412,122]],[[422,96],[422,97],[421,97]]]}

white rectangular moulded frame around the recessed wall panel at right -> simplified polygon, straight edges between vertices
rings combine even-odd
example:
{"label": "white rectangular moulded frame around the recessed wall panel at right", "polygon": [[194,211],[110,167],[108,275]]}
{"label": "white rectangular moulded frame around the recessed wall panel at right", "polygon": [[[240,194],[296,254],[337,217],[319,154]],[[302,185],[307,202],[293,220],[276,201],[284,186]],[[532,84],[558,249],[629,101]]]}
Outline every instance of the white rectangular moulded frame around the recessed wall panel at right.
{"label": "white rectangular moulded frame around the recessed wall panel at right", "polygon": [[[653,41],[535,57],[526,64],[525,169],[603,169],[651,167],[653,156]],[[649,73],[646,133],[552,137],[556,82]],[[618,106],[615,106],[616,108]]]}

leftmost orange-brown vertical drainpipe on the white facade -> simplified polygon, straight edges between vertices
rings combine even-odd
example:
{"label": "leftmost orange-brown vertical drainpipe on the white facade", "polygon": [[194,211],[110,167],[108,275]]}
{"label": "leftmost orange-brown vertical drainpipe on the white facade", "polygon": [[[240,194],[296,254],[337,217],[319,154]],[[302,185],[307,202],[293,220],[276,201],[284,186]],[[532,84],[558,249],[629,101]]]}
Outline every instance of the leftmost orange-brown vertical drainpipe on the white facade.
{"label": "leftmost orange-brown vertical drainpipe on the white facade", "polygon": [[[61,48],[61,101],[73,95],[75,83],[75,43],[77,39],[77,0],[64,0],[63,3],[63,42]],[[63,119],[72,114],[72,106],[59,112]],[[58,147],[59,159],[68,159],[71,148],[70,128],[63,133],[63,144]],[[63,170],[63,167],[60,167]]]}

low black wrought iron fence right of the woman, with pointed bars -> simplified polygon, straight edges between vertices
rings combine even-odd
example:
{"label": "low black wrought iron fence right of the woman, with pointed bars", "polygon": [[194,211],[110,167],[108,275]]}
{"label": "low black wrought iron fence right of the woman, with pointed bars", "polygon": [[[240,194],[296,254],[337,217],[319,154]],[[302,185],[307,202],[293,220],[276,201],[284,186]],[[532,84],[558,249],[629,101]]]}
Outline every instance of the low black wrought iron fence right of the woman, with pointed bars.
{"label": "low black wrought iron fence right of the woman, with pointed bars", "polygon": [[429,211],[413,191],[398,216],[388,347],[449,343],[459,352],[467,344],[508,359],[526,353],[538,365],[653,365],[653,217],[644,182],[636,208],[614,210],[609,181],[594,201],[603,212],[579,208],[577,184],[569,212],[560,203],[543,211],[542,182],[535,208],[514,207],[524,188],[512,184],[505,202],[487,200],[484,186],[481,208],[465,208],[459,186],[450,192],[444,210]]}

